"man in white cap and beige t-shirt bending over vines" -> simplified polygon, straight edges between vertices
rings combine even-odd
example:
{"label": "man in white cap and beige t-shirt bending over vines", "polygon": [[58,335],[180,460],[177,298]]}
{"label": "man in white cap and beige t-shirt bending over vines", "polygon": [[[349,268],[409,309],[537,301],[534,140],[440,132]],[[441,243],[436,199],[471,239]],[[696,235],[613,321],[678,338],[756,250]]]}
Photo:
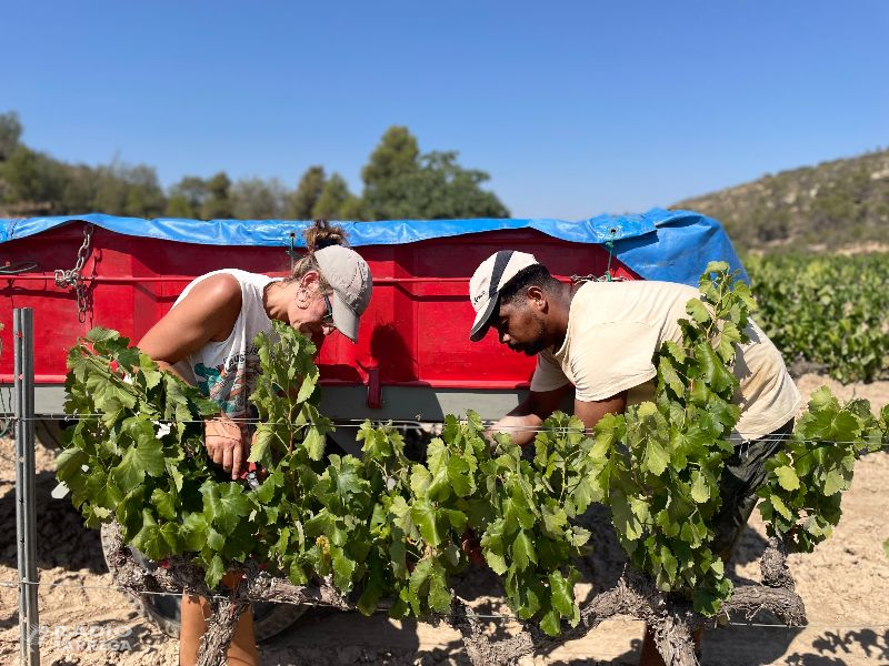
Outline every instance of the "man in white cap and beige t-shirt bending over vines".
{"label": "man in white cap and beige t-shirt bending over vines", "polygon": [[[533,255],[501,250],[476,270],[469,295],[476,310],[472,342],[492,327],[512,351],[537,356],[528,396],[490,428],[526,445],[571,389],[575,415],[587,428],[628,404],[652,400],[652,356],[663,342],[681,342],[678,322],[688,317],[686,303],[700,294],[672,282],[565,284]],[[741,410],[738,445],[720,478],[722,506],[711,545],[725,561],[756,506],[765,462],[792,432],[801,403],[771,341],[752,322],[746,333],[750,341],[738,345],[733,366],[740,381],[735,396]],[[640,664],[663,664],[649,632]]]}

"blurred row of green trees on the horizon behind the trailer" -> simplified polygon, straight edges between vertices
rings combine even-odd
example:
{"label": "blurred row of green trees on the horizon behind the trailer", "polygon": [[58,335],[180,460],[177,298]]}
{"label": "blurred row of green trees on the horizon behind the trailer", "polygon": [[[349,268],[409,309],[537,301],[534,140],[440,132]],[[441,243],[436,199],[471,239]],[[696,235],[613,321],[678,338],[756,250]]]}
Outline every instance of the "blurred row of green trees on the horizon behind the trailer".
{"label": "blurred row of green trees on the horizon behind the trailer", "polygon": [[509,214],[496,194],[482,189],[487,173],[460,167],[457,152],[422,154],[417,138],[403,125],[390,127],[371,152],[361,170],[360,196],[349,192],[341,175],[328,179],[324,168],[314,164],[293,192],[274,179],[232,184],[221,171],[210,179],[183,176],[170,188],[168,199],[152,167],[117,161],[96,168],[69,164],[20,143],[21,131],[16,112],[0,114],[0,202],[29,214],[96,210],[141,218],[354,221]]}

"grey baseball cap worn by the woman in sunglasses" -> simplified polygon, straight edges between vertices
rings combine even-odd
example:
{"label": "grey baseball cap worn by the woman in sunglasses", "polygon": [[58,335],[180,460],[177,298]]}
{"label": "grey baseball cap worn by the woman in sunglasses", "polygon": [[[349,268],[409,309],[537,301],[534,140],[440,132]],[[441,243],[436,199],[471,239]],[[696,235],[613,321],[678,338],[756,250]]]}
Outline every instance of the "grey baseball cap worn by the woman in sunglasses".
{"label": "grey baseball cap worn by the woman in sunglasses", "polygon": [[328,245],[314,252],[321,275],[333,287],[333,325],[352,342],[358,342],[358,322],[370,303],[373,280],[370,268],[358,252],[342,245]]}

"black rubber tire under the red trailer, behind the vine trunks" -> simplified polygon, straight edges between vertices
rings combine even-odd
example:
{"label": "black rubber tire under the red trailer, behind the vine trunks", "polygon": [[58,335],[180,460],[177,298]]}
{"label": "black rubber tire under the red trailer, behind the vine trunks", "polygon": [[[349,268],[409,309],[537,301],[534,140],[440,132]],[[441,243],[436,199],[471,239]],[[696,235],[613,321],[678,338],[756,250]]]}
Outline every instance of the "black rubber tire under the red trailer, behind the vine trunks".
{"label": "black rubber tire under the red trailer, behind the vine trunks", "polygon": [[[108,528],[107,525],[102,525],[101,529],[102,556],[104,557],[106,565],[108,565],[108,552],[110,548]],[[157,568],[154,563],[147,559],[139,551],[130,548],[130,552],[146,571],[151,572]],[[180,596],[158,594],[128,594],[127,596],[142,617],[151,620],[151,623],[171,638],[179,638],[179,605],[182,601]],[[302,617],[307,609],[307,606],[297,606],[294,604],[253,604],[253,634],[256,635],[257,643],[268,640],[272,636],[277,636],[281,632],[290,628],[293,623]]]}

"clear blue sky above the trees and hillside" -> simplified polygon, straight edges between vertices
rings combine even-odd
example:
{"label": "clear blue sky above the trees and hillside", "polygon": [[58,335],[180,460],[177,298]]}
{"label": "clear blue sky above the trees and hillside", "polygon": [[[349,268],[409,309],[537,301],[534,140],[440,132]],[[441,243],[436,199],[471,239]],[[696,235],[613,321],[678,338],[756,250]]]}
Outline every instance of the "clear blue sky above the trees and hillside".
{"label": "clear blue sky above the trees and hillside", "polygon": [[638,212],[889,145],[889,2],[7,2],[0,112],[31,148],[182,175],[383,131],[457,150],[513,216]]}

